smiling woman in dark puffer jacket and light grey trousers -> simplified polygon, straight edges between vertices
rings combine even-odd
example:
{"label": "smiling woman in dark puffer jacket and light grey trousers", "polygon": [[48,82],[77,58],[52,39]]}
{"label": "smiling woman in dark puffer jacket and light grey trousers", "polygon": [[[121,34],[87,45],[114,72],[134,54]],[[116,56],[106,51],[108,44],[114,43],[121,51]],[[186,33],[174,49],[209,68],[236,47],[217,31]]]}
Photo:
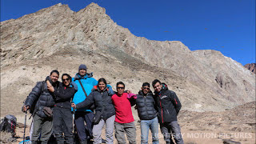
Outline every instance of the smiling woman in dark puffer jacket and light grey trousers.
{"label": "smiling woman in dark puffer jacket and light grey trousers", "polygon": [[111,96],[114,91],[110,86],[106,85],[106,80],[100,78],[98,85],[94,86],[94,89],[89,96],[83,101],[75,105],[72,103],[72,107],[75,109],[86,108],[89,109],[94,105],[95,117],[93,127],[94,144],[102,143],[102,128],[106,125],[106,143],[113,144],[113,130],[114,130],[114,119],[115,110],[111,100]]}

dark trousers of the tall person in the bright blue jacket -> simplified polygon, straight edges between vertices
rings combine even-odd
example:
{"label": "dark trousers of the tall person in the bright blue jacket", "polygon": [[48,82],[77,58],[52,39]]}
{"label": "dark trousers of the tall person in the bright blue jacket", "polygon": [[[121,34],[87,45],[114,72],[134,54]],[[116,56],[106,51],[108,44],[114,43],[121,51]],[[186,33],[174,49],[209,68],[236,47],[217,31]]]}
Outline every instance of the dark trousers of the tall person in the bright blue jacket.
{"label": "dark trousers of the tall person in the bright blue jacket", "polygon": [[[87,141],[93,137],[93,112],[76,111],[74,114],[74,122],[80,142]],[[86,122],[86,126],[85,126]]]}

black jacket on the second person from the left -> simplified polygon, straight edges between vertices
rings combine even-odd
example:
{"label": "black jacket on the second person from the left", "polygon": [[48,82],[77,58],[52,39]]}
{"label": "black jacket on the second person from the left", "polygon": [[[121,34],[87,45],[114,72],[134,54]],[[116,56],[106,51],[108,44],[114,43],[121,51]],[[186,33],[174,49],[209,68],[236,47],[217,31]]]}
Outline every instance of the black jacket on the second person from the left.
{"label": "black jacket on the second person from the left", "polygon": [[71,102],[70,101],[74,97],[74,94],[76,92],[77,92],[77,90],[75,89],[75,87],[72,84],[70,84],[70,86],[66,87],[61,82],[59,85],[59,88],[54,90],[54,95],[56,97],[55,106],[59,106],[59,107],[71,110]]}

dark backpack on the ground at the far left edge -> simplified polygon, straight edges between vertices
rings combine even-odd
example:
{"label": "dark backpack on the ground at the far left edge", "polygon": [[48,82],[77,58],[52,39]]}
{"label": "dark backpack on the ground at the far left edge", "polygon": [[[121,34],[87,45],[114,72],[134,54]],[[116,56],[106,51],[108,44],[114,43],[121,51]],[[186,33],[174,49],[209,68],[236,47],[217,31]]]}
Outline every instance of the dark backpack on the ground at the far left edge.
{"label": "dark backpack on the ground at the far left edge", "polygon": [[17,123],[17,118],[14,117],[14,115],[6,115],[5,118],[1,119],[0,123],[0,131],[5,131],[7,133],[11,133],[12,136],[14,137],[15,133],[15,128],[16,128],[16,123]]}

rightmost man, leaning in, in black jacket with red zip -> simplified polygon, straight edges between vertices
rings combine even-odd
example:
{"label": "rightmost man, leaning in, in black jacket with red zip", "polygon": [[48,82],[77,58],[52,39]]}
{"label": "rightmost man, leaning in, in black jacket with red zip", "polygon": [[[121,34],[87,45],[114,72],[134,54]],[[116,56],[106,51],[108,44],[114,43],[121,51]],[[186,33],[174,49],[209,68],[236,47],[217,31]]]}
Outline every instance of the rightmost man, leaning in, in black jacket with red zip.
{"label": "rightmost man, leaning in, in black jacket with red zip", "polygon": [[168,144],[174,143],[171,139],[172,133],[175,142],[183,144],[181,128],[177,121],[178,112],[182,108],[181,102],[179,102],[174,91],[168,90],[158,79],[152,82],[152,86],[154,87],[154,98],[158,106],[158,120],[164,140]]}

